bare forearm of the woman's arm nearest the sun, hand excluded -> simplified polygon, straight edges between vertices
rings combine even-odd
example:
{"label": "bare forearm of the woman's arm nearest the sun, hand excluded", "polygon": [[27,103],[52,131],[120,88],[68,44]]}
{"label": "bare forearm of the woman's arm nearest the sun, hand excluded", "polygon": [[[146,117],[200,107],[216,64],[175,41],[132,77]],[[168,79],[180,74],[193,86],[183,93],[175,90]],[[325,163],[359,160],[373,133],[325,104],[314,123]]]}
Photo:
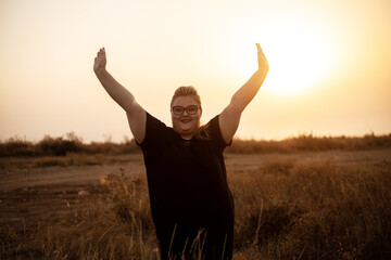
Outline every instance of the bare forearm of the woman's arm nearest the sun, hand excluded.
{"label": "bare forearm of the woman's arm nearest the sun, hand excluded", "polygon": [[267,70],[258,69],[251,78],[234,94],[231,105],[243,112],[245,106],[254,99],[267,75]]}

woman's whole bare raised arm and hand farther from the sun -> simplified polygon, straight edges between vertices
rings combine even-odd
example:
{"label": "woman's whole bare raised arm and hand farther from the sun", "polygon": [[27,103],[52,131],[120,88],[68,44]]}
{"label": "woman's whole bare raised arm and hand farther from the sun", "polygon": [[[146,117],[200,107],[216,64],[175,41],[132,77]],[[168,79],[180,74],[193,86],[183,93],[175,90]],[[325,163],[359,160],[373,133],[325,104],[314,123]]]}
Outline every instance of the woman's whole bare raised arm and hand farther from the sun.
{"label": "woman's whole bare raised arm and hand farther from the sun", "polygon": [[130,131],[136,141],[141,143],[146,135],[146,110],[136,102],[135,96],[119,84],[105,69],[106,54],[100,49],[94,58],[93,72],[109,95],[126,112]]}

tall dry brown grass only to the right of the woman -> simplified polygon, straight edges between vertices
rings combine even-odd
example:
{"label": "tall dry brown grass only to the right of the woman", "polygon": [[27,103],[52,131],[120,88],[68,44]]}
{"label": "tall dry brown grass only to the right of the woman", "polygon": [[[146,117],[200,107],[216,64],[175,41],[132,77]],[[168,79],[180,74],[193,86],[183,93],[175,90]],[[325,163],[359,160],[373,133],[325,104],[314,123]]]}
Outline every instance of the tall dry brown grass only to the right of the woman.
{"label": "tall dry brown grass only to the right of the woman", "polygon": [[391,257],[389,160],[368,168],[272,161],[260,171],[231,178],[237,249],[247,259]]}

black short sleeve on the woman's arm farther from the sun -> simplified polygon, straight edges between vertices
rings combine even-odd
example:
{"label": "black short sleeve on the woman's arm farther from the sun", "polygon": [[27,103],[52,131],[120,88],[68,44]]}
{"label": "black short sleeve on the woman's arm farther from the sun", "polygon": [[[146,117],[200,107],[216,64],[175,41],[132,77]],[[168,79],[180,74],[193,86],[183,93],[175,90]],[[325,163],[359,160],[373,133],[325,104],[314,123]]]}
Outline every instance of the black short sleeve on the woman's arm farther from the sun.
{"label": "black short sleeve on the woman's arm farther from the sun", "polygon": [[146,136],[137,143],[142,151],[157,150],[167,130],[167,126],[147,113]]}

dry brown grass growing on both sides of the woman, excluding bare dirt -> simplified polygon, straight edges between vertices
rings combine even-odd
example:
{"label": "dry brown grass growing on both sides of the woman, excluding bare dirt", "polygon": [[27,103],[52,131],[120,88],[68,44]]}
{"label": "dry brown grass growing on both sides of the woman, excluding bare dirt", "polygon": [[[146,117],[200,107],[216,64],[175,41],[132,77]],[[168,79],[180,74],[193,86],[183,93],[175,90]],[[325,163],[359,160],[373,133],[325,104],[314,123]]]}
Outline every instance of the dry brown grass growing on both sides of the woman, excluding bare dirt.
{"label": "dry brown grass growing on both sides of the woman, excluding bare dirt", "polygon": [[[229,172],[235,258],[390,259],[391,160],[269,159]],[[1,259],[159,259],[144,174],[110,174],[73,218],[1,229]]]}

